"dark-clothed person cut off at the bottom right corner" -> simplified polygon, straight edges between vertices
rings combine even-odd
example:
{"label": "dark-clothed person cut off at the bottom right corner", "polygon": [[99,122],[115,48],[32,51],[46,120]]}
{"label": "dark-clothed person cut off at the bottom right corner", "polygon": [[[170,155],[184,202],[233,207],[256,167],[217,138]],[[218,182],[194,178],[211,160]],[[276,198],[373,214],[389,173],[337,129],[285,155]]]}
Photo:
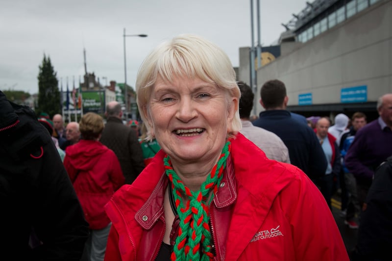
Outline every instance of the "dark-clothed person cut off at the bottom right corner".
{"label": "dark-clothed person cut off at the bottom right corner", "polygon": [[351,260],[391,260],[392,155],[376,169],[362,210]]}

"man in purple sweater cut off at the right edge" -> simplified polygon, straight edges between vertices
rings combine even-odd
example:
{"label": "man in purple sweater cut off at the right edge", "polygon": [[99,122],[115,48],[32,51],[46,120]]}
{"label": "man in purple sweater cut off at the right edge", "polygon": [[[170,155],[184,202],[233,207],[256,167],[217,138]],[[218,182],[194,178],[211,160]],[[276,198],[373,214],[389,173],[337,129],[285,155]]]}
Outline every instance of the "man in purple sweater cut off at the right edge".
{"label": "man in purple sweater cut off at the right edge", "polygon": [[358,130],[344,157],[344,163],[357,181],[360,206],[363,206],[373,180],[374,170],[392,155],[392,93],[377,101],[380,115]]}

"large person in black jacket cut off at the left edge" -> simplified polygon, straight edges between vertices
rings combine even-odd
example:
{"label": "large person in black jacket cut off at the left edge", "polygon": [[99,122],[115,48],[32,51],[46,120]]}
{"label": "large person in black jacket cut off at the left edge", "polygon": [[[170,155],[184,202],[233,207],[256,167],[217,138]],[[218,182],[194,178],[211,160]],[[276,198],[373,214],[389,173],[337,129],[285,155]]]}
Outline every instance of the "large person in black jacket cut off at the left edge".
{"label": "large person in black jacket cut off at the left edge", "polygon": [[48,130],[0,91],[0,252],[9,260],[78,261],[88,236]]}

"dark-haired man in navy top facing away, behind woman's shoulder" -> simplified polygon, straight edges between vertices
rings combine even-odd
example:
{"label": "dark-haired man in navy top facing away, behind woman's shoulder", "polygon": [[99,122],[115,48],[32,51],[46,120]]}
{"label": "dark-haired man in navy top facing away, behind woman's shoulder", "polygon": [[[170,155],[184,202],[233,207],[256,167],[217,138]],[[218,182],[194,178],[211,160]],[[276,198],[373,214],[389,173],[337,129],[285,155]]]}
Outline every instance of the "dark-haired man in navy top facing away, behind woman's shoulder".
{"label": "dark-haired man in navy top facing away, behind woman's shoulder", "polygon": [[266,81],[260,90],[260,104],[266,110],[252,124],[278,135],[289,149],[291,164],[314,181],[325,175],[328,162],[314,131],[287,110],[288,101],[284,82]]}

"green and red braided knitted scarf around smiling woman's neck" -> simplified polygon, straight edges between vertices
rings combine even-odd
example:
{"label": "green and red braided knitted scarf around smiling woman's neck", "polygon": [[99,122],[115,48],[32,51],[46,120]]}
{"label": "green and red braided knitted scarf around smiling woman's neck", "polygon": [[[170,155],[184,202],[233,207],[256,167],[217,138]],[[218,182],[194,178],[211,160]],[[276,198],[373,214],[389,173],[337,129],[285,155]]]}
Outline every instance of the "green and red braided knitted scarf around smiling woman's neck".
{"label": "green and red braided knitted scarf around smiling woman's neck", "polygon": [[[212,168],[211,173],[207,176],[204,183],[201,184],[200,190],[191,191],[178,177],[172,168],[169,156],[164,158],[166,175],[172,182],[172,190],[180,219],[180,228],[178,236],[175,239],[172,257],[174,260],[192,261],[192,260],[212,260],[214,255],[211,252],[211,232],[208,225],[209,206],[214,198],[218,187],[221,184],[222,173],[226,167],[226,159],[230,154],[230,141],[226,142],[223,147],[218,163]],[[210,191],[213,191],[210,199],[207,201]],[[169,192],[170,193],[170,192]],[[182,196],[188,197],[186,206],[184,206]],[[200,245],[201,244],[201,245]],[[202,256],[200,258],[200,247]]]}

